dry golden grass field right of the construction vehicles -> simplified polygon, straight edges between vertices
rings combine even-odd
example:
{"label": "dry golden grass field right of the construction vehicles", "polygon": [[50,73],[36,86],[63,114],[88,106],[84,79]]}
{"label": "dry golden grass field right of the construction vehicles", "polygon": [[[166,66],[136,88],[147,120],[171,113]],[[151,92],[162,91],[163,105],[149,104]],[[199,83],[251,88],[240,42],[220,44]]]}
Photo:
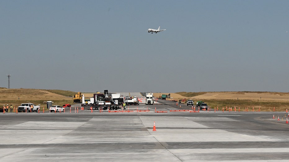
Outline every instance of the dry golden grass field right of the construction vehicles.
{"label": "dry golden grass field right of the construction vehicles", "polygon": [[[155,97],[161,94],[154,93]],[[178,92],[171,93],[171,98],[192,99],[194,101],[203,101],[211,108],[218,107],[240,107],[242,111],[245,107],[249,110],[261,109],[261,111],[286,111],[289,109],[289,93],[282,92]],[[172,99],[170,99],[172,100]]]}

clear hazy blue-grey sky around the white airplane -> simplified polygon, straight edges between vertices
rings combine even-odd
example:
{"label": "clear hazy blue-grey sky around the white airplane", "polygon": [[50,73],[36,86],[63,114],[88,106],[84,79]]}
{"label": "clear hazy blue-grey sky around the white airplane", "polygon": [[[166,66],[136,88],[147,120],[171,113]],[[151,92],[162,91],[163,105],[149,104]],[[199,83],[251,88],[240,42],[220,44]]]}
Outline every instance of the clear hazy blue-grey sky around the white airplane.
{"label": "clear hazy blue-grey sky around the white airplane", "polygon": [[0,87],[289,92],[287,0],[0,0],[0,15]]}

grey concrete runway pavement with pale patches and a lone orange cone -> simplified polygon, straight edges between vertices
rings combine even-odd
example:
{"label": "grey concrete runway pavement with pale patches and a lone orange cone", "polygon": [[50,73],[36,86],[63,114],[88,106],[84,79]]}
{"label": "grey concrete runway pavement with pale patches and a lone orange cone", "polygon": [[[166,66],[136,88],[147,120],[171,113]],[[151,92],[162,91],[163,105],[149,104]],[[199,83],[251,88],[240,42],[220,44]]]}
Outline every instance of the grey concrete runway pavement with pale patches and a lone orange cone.
{"label": "grey concrete runway pavement with pale patches and a lone orange cone", "polygon": [[1,113],[0,161],[289,160],[284,112],[169,112],[190,106],[159,103],[127,107],[150,112]]}

